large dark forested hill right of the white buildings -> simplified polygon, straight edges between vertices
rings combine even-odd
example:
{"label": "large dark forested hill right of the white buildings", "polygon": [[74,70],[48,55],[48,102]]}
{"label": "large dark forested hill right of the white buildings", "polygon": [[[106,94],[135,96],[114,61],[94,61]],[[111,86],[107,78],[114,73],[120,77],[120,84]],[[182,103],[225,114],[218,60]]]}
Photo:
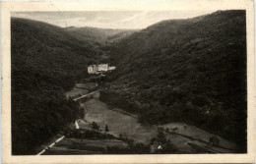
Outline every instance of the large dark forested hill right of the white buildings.
{"label": "large dark forested hill right of the white buildings", "polygon": [[245,145],[245,11],[163,21],[110,54],[117,69],[102,100],[134,109],[143,122],[187,122]]}

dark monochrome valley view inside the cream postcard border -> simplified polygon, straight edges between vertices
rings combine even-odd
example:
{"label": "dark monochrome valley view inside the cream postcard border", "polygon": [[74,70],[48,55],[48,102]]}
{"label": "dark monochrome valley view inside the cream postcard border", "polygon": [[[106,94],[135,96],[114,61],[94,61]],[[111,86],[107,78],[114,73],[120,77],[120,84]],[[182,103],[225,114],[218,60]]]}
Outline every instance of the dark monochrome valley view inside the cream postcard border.
{"label": "dark monochrome valley view inside the cream postcard border", "polygon": [[246,154],[246,16],[11,12],[11,155]]}

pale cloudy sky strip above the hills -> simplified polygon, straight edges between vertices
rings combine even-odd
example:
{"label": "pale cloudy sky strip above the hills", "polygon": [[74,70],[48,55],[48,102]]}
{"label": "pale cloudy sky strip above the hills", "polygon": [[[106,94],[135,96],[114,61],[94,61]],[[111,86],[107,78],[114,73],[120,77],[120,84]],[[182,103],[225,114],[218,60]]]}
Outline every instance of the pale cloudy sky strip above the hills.
{"label": "pale cloudy sky strip above the hills", "polygon": [[215,11],[15,12],[12,17],[58,27],[145,28],[163,20],[188,19]]}

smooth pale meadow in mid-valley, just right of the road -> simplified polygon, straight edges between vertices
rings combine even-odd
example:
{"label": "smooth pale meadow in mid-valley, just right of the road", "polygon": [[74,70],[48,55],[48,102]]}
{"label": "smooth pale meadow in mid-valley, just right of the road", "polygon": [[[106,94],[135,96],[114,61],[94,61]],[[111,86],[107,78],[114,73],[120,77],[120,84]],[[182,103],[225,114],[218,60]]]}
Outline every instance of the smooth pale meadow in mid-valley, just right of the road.
{"label": "smooth pale meadow in mid-valley, just right of the road", "polygon": [[[98,92],[83,104],[87,109],[85,120],[96,122],[102,131],[105,125],[108,125],[109,134],[114,136],[128,137],[134,139],[135,142],[149,143],[149,141],[157,136],[157,129],[154,127],[142,126],[138,119],[128,116],[124,113],[109,110],[109,106],[98,100]],[[121,109],[118,109],[121,110]]]}

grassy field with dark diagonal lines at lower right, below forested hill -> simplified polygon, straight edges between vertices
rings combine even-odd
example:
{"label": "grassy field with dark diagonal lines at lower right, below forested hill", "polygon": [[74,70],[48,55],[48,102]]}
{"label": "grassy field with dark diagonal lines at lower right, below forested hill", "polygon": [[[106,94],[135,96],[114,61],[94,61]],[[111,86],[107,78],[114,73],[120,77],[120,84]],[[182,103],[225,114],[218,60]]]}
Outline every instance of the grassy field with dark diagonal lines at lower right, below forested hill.
{"label": "grassy field with dark diagonal lines at lower right, below forested hill", "polygon": [[[224,139],[223,137],[218,137],[220,139],[218,146],[210,145],[210,137],[213,137],[214,135],[195,126],[187,125],[184,123],[170,123],[160,127],[162,127],[164,130],[168,129],[168,133],[165,133],[166,139],[169,139],[171,143],[176,145],[180,150],[189,153],[194,153],[195,150],[199,152],[209,151],[231,153],[237,148],[234,143]],[[173,131],[173,129],[176,130]],[[191,146],[192,144],[195,146]],[[201,150],[199,150],[198,147],[201,147]]]}

